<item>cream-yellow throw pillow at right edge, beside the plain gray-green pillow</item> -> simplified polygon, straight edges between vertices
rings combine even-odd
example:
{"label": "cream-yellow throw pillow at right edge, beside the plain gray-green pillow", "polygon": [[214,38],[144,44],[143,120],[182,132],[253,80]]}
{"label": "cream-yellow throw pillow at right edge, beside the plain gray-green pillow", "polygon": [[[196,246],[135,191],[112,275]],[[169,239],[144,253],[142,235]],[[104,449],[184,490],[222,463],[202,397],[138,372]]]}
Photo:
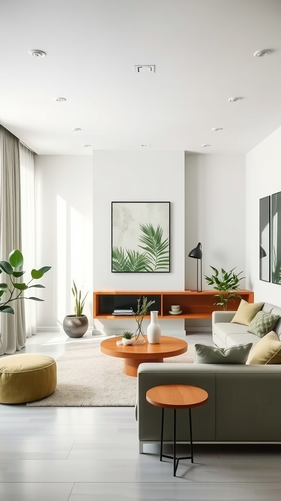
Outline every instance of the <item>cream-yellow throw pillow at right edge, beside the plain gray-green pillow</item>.
{"label": "cream-yellow throw pillow at right edge, beside the plain gray-green pillow", "polygon": [[274,331],[268,332],[253,347],[247,365],[281,364],[281,342]]}

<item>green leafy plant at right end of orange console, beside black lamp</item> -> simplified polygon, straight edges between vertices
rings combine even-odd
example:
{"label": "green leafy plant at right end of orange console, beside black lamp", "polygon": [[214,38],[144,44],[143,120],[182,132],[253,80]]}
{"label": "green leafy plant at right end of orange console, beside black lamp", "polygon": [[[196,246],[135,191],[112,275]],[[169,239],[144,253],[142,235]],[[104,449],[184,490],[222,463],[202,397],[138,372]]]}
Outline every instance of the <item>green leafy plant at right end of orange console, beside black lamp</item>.
{"label": "green leafy plant at right end of orange console, beside black lamp", "polygon": [[232,268],[230,272],[225,272],[223,268],[221,268],[220,272],[218,272],[218,270],[213,266],[210,268],[214,271],[214,275],[211,275],[210,277],[204,275],[204,277],[208,285],[212,285],[216,291],[219,291],[218,294],[214,294],[214,297],[219,298],[219,301],[214,303],[214,305],[220,306],[221,310],[226,311],[228,302],[233,302],[233,298],[241,298],[241,296],[233,291],[239,290],[240,280],[245,277],[239,277],[239,275],[243,272],[240,272],[237,275],[233,273],[235,268]]}

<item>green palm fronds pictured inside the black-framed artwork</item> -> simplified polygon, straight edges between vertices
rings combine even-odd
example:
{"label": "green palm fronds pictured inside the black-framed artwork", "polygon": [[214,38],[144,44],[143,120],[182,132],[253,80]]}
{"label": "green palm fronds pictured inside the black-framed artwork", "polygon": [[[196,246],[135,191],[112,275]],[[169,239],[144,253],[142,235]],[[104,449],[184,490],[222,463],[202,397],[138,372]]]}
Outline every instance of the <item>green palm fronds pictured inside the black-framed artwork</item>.
{"label": "green palm fronds pictured inside the black-framed artwork", "polygon": [[112,248],[113,272],[155,272],[168,269],[169,266],[169,239],[162,241],[163,229],[158,224],[156,229],[152,224],[139,224],[142,234],[138,245],[145,252],[141,253],[122,247]]}

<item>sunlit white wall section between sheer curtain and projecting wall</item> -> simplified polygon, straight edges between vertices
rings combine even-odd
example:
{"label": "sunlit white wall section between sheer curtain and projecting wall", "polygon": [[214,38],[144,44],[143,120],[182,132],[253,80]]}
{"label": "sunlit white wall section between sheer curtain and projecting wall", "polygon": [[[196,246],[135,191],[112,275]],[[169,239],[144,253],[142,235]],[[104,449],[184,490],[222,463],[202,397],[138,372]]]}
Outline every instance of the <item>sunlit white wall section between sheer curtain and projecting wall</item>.
{"label": "sunlit white wall section between sheer curtain and projecting wall", "polygon": [[51,266],[42,282],[38,327],[61,325],[74,313],[72,279],[88,292],[84,313],[92,325],[92,157],[35,155],[36,256]]}

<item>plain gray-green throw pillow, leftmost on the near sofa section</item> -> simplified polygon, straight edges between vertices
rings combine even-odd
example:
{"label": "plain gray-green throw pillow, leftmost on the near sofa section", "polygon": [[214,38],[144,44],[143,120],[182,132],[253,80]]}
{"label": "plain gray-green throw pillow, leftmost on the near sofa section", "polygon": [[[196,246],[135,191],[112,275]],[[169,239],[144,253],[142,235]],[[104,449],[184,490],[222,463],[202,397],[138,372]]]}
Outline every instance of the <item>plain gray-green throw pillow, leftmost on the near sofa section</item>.
{"label": "plain gray-green throw pillow, leftmost on the near sofa section", "polygon": [[207,346],[195,344],[195,364],[245,364],[252,343],[226,346]]}

